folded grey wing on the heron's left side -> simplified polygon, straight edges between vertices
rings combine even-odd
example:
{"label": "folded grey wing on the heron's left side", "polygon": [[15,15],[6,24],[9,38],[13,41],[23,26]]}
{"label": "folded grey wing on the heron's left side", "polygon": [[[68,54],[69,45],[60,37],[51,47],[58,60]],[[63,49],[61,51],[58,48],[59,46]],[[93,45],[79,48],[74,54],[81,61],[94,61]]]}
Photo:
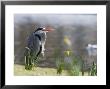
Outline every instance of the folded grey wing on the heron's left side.
{"label": "folded grey wing on the heron's left side", "polygon": [[28,48],[31,50],[32,54],[37,54],[40,50],[40,40],[34,34],[31,34],[28,38]]}

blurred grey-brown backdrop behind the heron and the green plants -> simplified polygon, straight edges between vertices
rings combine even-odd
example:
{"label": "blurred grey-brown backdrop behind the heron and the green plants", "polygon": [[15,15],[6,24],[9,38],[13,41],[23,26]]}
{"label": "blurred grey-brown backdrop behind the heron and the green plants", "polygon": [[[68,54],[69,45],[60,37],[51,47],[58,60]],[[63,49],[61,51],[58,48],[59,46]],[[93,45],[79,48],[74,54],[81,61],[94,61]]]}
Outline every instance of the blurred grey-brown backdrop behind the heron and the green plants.
{"label": "blurred grey-brown backdrop behind the heron and the green plants", "polygon": [[[97,51],[89,50],[97,45],[96,14],[15,14],[14,15],[14,63],[24,65],[24,51],[28,36],[38,27],[51,26],[47,33],[45,57],[42,67],[55,67],[55,56],[72,52],[84,60],[85,69],[97,62]],[[88,46],[89,45],[89,46]]]}

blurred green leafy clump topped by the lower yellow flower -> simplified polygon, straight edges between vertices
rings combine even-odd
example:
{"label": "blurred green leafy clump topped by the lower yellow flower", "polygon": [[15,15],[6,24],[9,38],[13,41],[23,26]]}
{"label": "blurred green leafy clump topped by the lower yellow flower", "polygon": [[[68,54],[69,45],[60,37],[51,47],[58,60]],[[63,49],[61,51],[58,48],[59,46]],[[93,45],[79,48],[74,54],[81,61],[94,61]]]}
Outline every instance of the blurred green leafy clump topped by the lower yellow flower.
{"label": "blurred green leafy clump topped by the lower yellow flower", "polygon": [[68,60],[65,62],[65,67],[71,76],[79,76],[81,71],[81,61],[73,55],[72,50],[66,50],[64,55]]}

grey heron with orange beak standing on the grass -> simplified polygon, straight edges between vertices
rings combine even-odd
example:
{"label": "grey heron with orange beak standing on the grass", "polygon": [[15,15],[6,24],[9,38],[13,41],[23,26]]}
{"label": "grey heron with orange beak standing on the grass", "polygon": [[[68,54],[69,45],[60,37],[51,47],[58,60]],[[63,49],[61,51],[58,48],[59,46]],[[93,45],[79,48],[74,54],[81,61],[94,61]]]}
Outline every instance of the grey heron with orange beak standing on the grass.
{"label": "grey heron with orange beak standing on the grass", "polygon": [[40,54],[44,56],[46,33],[52,31],[51,27],[37,28],[27,40],[27,47],[25,47],[25,69],[32,69],[34,60],[38,58]]}

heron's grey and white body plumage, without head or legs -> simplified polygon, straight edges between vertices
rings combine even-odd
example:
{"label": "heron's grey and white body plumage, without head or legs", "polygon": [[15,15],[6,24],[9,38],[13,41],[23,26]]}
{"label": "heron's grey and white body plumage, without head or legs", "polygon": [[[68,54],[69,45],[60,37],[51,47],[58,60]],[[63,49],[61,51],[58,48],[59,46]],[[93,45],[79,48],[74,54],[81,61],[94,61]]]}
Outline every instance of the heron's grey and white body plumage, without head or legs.
{"label": "heron's grey and white body plumage, without head or legs", "polygon": [[[45,44],[46,34],[40,31],[32,33],[28,38],[28,48],[32,55],[39,55],[43,50],[42,45]],[[43,45],[44,46],[44,45]]]}

